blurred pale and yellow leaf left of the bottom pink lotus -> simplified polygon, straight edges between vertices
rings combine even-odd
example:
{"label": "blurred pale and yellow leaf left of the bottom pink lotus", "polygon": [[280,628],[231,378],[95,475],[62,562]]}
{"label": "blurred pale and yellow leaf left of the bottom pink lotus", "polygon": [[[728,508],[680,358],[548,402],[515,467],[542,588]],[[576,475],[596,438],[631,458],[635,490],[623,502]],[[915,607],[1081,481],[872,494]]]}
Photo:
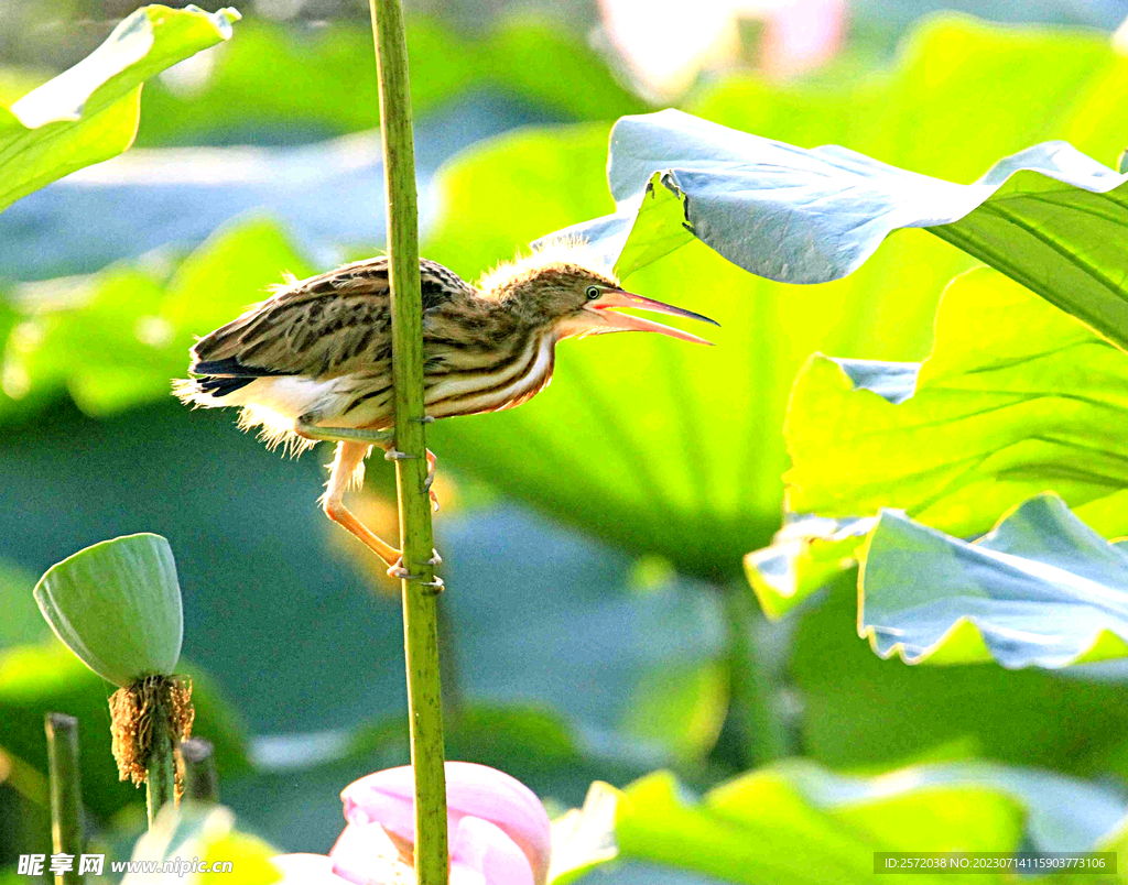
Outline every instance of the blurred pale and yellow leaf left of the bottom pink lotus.
{"label": "blurred pale and yellow leaf left of the bottom pink lotus", "polygon": [[[161,808],[152,829],[138,840],[132,860],[142,866],[179,862],[177,880],[186,885],[222,882],[224,875],[246,885],[271,885],[282,878],[282,873],[271,864],[277,850],[262,839],[240,832],[235,825],[235,814],[221,805],[167,805]],[[199,873],[194,861],[212,869],[217,862],[230,864],[227,869]],[[233,874],[233,875],[232,875]],[[164,874],[167,878],[169,874]],[[122,885],[146,885],[160,877],[151,873],[127,873]]]}

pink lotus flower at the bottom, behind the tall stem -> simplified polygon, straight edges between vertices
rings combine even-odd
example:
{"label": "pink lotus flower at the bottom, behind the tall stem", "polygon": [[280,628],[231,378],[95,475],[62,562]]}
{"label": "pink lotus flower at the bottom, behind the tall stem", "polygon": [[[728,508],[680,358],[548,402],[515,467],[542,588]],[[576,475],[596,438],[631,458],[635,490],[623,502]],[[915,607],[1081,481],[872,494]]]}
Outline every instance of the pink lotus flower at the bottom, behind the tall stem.
{"label": "pink lotus flower at the bottom, behind the tall stem", "polygon": [[[414,883],[413,772],[377,771],[342,791],[349,825],[325,858],[284,855],[284,883]],[[536,795],[496,769],[447,763],[451,885],[545,885],[552,848],[548,814]]]}

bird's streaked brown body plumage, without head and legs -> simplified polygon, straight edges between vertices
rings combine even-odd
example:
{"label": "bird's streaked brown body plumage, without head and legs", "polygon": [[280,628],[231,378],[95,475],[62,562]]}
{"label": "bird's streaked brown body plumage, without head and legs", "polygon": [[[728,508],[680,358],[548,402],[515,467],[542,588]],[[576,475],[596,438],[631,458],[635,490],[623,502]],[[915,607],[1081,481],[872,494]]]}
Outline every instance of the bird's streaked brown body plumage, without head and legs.
{"label": "bird's streaked brown body plumage, without head and legs", "polygon": [[[564,268],[566,274],[567,268]],[[504,297],[490,297],[440,264],[420,260],[424,402],[440,418],[517,406],[552,380],[561,337]],[[603,282],[614,285],[614,277]],[[388,260],[381,256],[291,281],[201,338],[196,378],[177,395],[200,406],[241,406],[245,427],[270,442],[312,444],[293,422],[385,428],[393,423]]]}

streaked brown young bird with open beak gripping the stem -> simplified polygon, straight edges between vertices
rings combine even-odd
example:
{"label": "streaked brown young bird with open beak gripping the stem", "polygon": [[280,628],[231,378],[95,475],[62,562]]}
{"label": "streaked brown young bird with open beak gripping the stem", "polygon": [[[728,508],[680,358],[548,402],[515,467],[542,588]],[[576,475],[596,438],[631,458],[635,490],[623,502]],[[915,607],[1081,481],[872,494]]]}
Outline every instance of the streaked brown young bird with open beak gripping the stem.
{"label": "streaked brown young bird with open beak gripping the stem", "polygon": [[[405,576],[400,552],[344,504],[372,446],[395,458],[388,257],[274,286],[266,300],[199,338],[174,393],[193,407],[239,407],[239,426],[293,453],[336,443],[321,510]],[[544,390],[556,345],[573,337],[652,331],[710,344],[681,329],[617,312],[637,308],[716,324],[624,291],[582,241],[557,240],[487,272],[476,284],[420,259],[424,421],[508,409]],[[428,490],[435,458],[428,451]],[[432,502],[434,502],[434,495]],[[438,555],[434,557],[439,561]]]}

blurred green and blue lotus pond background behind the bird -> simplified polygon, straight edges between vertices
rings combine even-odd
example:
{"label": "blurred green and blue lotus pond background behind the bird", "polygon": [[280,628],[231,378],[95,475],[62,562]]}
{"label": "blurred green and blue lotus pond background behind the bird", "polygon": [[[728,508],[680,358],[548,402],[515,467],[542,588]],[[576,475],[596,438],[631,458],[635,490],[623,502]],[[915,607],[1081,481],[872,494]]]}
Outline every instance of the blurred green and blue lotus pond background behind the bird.
{"label": "blurred green and blue lotus pond background behind the bird", "polygon": [[[409,7],[425,255],[473,277],[609,211],[610,124],[664,105],[961,182],[1038,141],[1109,165],[1128,143],[1128,62],[1110,37],[1125,2],[959,5],[978,18],[812,3],[818,39],[770,3],[672,5],[708,27],[669,44],[643,6]],[[133,8],[5,5],[0,98]],[[367,6],[240,11],[228,44],[146,87],[134,149],[0,215],[0,864],[49,844],[49,709],[82,719],[99,832],[142,825],[107,751],[109,687],[59,652],[30,596],[51,564],[116,534],[173,546],[196,733],[217,743],[222,798],[247,829],[325,852],[340,789],[406,761],[396,588],[319,513],[327,451],[283,460],[233,415],[168,396],[193,334],[283,271],[382,239]],[[741,575],[781,524],[781,428],[803,360],[920,359],[943,285],[970,266],[908,231],[855,276],[808,289],[694,244],[629,287],[714,316],[717,347],[570,344],[534,402],[429,432],[450,758],[502,768],[558,808],[597,779],[667,767],[704,788],[785,755],[858,772],[986,759],[1119,789],[1122,673],[909,669],[856,637],[851,578],[768,625]],[[373,461],[356,510],[385,537],[390,495]]]}

